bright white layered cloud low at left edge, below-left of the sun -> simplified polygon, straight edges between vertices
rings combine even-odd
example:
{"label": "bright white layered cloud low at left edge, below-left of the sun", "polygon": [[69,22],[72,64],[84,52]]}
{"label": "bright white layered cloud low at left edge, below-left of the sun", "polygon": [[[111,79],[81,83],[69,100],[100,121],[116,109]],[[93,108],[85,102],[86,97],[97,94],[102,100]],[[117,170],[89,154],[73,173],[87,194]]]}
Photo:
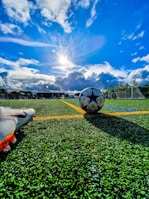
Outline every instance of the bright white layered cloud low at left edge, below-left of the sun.
{"label": "bright white layered cloud low at left edge, below-left of the sun", "polygon": [[[28,67],[29,65],[37,65],[39,62],[34,59],[20,58],[16,61],[9,61],[0,57],[0,65],[6,65],[9,69],[0,70],[7,72],[7,88],[13,90],[22,90],[28,87],[34,87],[39,84],[53,84],[55,77],[52,75],[40,74],[35,68]],[[6,82],[0,76],[0,85],[6,85]]]}

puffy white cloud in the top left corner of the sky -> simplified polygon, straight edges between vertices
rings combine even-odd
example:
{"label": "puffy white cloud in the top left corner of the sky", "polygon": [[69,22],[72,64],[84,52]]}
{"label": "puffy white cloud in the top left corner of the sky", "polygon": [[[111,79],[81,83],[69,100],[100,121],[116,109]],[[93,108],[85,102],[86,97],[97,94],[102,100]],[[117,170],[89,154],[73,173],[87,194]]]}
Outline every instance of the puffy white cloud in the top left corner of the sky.
{"label": "puffy white cloud in the top left corner of the sky", "polygon": [[27,24],[30,20],[31,1],[27,0],[2,0],[3,6],[10,18],[15,21]]}

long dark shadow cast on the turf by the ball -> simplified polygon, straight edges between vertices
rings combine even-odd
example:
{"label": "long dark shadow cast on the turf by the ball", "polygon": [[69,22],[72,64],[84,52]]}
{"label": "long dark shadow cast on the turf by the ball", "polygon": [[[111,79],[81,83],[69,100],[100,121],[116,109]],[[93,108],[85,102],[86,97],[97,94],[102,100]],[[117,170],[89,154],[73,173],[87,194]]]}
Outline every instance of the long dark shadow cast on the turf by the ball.
{"label": "long dark shadow cast on the turf by the ball", "polygon": [[88,122],[111,136],[149,147],[149,130],[136,123],[104,113],[85,114],[84,117]]}

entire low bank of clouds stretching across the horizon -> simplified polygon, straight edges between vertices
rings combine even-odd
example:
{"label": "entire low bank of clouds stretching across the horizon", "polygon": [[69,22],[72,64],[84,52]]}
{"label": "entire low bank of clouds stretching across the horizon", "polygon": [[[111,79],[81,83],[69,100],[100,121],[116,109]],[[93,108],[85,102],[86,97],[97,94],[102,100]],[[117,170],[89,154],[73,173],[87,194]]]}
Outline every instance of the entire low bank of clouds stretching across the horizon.
{"label": "entire low bank of clouds stretching across the horizon", "polygon": [[[115,69],[108,62],[86,65],[80,69],[66,73],[65,76],[41,74],[31,65],[38,65],[34,59],[20,58],[9,61],[0,58],[1,65],[9,66],[0,73],[0,84],[13,90],[44,91],[49,90],[82,90],[89,86],[106,89],[125,83],[132,83],[135,79],[140,85],[149,83],[149,65],[131,72]],[[28,67],[30,66],[30,67]]]}

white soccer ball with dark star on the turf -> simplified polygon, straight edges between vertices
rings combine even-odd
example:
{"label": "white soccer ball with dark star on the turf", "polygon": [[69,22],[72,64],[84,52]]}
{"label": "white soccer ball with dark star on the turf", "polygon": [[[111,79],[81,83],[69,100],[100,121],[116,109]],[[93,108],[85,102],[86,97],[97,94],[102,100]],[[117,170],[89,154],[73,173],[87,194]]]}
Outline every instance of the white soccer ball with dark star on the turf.
{"label": "white soccer ball with dark star on the turf", "polygon": [[104,94],[95,87],[88,87],[81,91],[79,103],[87,113],[96,113],[104,105]]}

